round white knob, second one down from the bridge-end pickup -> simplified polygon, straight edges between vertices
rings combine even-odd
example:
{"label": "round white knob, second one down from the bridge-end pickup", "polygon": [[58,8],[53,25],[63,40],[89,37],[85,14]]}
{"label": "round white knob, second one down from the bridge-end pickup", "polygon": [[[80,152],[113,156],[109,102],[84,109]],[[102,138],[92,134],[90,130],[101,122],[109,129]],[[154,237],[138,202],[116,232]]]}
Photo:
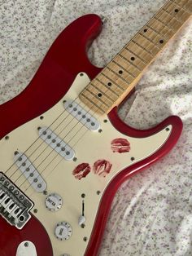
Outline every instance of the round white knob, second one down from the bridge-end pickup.
{"label": "round white knob, second one down from the bridge-end pickup", "polygon": [[55,236],[61,241],[68,240],[72,236],[72,227],[66,222],[58,223],[55,227]]}

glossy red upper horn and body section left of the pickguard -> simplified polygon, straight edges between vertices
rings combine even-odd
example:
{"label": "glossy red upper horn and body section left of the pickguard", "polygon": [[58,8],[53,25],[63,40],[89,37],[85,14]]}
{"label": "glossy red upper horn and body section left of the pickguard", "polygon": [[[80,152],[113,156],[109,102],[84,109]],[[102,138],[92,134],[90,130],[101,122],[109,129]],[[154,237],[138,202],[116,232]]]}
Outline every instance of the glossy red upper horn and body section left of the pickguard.
{"label": "glossy red upper horn and body section left of the pickguard", "polygon": [[0,106],[0,139],[55,105],[66,94],[77,73],[88,73],[92,79],[101,71],[102,68],[90,64],[86,55],[101,29],[98,15],[85,15],[59,34],[26,89]]}

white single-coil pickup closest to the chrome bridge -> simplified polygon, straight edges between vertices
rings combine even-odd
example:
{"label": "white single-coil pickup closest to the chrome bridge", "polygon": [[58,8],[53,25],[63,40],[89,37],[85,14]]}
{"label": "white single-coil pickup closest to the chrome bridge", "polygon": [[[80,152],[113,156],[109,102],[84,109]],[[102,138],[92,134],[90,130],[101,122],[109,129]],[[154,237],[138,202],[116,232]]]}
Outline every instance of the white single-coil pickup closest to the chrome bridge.
{"label": "white single-coil pickup closest to the chrome bridge", "polygon": [[24,153],[17,152],[15,154],[15,163],[36,192],[43,192],[46,190],[45,180]]}

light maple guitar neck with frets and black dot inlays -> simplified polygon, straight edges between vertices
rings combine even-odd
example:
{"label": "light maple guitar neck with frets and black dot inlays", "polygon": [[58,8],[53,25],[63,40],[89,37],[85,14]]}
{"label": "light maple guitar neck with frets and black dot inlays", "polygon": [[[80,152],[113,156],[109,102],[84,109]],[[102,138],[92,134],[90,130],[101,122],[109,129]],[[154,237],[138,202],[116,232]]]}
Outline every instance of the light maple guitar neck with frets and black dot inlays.
{"label": "light maple guitar neck with frets and black dot inlays", "polygon": [[191,0],[170,0],[124,46],[80,94],[94,113],[109,113],[129,95],[159,51],[181,29],[192,11]]}

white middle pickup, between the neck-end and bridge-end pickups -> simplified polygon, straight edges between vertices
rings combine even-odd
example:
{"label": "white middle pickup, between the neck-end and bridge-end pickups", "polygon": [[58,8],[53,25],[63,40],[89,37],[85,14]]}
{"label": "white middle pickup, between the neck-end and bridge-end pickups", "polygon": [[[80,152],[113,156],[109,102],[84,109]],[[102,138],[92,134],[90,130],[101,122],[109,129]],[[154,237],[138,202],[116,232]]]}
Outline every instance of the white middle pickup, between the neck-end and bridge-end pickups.
{"label": "white middle pickup, between the neck-end and bridge-end pickups", "polygon": [[72,160],[75,157],[74,150],[48,127],[41,127],[39,129],[39,136],[65,160]]}

